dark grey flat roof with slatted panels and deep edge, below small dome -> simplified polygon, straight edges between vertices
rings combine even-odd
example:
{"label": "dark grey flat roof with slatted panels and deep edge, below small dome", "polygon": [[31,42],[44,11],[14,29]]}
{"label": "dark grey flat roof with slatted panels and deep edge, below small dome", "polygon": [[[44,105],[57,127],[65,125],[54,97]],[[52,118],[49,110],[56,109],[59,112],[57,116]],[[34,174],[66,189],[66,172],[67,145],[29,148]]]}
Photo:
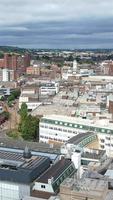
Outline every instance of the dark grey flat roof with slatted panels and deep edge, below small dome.
{"label": "dark grey flat roof with slatted panels and deep edge, below small dome", "polygon": [[50,166],[50,159],[42,156],[25,158],[23,154],[0,151],[0,180],[31,183]]}

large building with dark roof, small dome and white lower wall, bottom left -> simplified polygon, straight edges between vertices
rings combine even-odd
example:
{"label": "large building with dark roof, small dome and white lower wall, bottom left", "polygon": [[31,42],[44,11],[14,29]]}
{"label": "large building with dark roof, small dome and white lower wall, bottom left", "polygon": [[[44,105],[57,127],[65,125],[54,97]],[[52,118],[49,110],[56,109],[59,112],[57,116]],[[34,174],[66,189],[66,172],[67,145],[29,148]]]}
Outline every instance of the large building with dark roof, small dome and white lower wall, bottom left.
{"label": "large building with dark roof, small dome and white lower wall, bottom left", "polygon": [[0,150],[0,200],[30,196],[34,180],[49,166],[49,158],[32,156],[27,147],[23,154]]}

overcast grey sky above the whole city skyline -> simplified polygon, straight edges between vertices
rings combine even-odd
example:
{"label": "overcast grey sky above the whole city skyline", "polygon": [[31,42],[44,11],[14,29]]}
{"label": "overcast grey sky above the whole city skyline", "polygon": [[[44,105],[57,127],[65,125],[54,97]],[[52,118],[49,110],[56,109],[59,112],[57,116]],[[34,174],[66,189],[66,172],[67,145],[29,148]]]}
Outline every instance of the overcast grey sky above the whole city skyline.
{"label": "overcast grey sky above the whole city skyline", "polygon": [[113,0],[0,0],[0,45],[113,48]]}

